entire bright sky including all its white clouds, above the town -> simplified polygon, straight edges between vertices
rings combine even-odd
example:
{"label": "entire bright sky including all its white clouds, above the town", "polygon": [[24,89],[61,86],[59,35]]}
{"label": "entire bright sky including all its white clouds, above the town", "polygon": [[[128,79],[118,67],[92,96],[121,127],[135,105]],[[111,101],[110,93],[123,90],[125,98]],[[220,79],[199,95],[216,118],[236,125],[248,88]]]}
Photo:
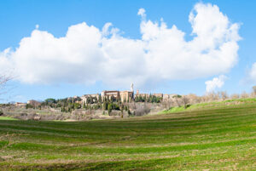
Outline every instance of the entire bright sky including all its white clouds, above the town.
{"label": "entire bright sky including all its white clouds, above the town", "polygon": [[255,1],[0,1],[2,102],[251,92]]}

